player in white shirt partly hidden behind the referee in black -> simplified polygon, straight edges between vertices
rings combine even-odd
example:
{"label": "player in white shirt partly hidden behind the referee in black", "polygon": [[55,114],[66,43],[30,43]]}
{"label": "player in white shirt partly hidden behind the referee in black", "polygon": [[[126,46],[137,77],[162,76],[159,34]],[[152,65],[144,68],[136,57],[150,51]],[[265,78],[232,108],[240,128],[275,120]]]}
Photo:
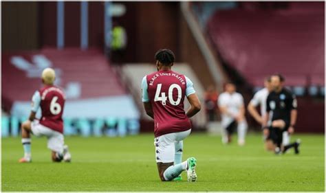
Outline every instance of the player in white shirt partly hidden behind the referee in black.
{"label": "player in white shirt partly hidden behind the referee in black", "polygon": [[[272,85],[270,84],[270,77],[265,78],[264,80],[264,87],[263,89],[257,91],[257,93],[254,94],[254,97],[252,100],[250,100],[248,104],[248,112],[252,117],[254,117],[254,120],[256,120],[259,124],[263,124],[263,117],[265,117],[266,114],[266,100],[268,97],[268,94],[272,91]],[[261,114],[259,115],[256,107],[260,106]],[[269,123],[270,124],[270,123]],[[273,151],[274,150],[274,144],[272,143],[272,140],[266,139],[267,134],[263,133],[264,139],[265,139],[265,149]],[[283,132],[283,145],[286,146],[290,142],[290,135],[287,133],[287,131]]]}

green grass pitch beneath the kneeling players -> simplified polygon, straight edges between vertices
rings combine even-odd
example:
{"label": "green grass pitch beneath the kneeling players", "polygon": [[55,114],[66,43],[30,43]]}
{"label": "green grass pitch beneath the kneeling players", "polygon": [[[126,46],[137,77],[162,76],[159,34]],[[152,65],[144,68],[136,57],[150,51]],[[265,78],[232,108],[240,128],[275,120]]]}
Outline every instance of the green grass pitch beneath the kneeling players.
{"label": "green grass pitch beneath the kneeling players", "polygon": [[[191,134],[184,156],[197,158],[197,182],[186,173],[161,182],[153,135],[66,137],[72,163],[52,163],[46,138],[32,138],[32,163],[18,163],[21,139],[2,139],[2,191],[324,191],[324,136],[302,139],[301,154],[276,156],[263,150],[260,134],[246,146],[221,144],[220,137]],[[234,140],[236,141],[236,140]]]}

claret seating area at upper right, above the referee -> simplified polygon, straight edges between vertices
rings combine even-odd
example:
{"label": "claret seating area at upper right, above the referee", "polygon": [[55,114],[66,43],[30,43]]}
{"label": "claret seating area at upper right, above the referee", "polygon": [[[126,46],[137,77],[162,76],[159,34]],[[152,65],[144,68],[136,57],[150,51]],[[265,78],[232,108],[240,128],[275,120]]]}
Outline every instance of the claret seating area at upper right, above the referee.
{"label": "claret seating area at upper right, above the referee", "polygon": [[275,72],[283,73],[289,86],[324,85],[323,2],[220,10],[207,30],[224,60],[254,86]]}

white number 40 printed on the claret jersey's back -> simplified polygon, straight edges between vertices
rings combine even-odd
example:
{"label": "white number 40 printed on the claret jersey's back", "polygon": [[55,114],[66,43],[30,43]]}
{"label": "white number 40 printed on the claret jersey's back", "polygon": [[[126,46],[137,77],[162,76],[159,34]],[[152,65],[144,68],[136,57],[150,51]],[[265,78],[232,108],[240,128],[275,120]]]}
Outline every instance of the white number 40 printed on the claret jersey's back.
{"label": "white number 40 printed on the claret jersey's back", "polygon": [[[162,104],[166,105],[166,100],[168,100],[168,97],[166,97],[164,92],[161,93],[161,89],[162,89],[162,84],[157,84],[154,101],[155,102],[156,101],[162,101]],[[173,89],[177,89],[177,100],[173,100]],[[181,87],[178,84],[171,84],[171,86],[169,87],[169,94],[168,94],[169,95],[169,102],[172,105],[180,104],[181,94],[182,94]]]}

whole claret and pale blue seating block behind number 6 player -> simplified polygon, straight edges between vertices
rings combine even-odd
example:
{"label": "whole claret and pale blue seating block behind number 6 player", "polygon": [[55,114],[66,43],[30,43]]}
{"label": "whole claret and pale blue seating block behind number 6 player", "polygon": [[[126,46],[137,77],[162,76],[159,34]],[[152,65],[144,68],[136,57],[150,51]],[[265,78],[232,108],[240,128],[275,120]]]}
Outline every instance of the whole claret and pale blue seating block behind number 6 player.
{"label": "whole claret and pale blue seating block behind number 6 player", "polygon": [[[41,71],[52,67],[56,84],[67,95],[65,117],[139,117],[133,98],[98,49],[3,52],[1,62],[6,72],[2,73],[2,105],[14,116],[28,115],[32,94],[41,87]],[[129,111],[123,111],[125,108]]]}

